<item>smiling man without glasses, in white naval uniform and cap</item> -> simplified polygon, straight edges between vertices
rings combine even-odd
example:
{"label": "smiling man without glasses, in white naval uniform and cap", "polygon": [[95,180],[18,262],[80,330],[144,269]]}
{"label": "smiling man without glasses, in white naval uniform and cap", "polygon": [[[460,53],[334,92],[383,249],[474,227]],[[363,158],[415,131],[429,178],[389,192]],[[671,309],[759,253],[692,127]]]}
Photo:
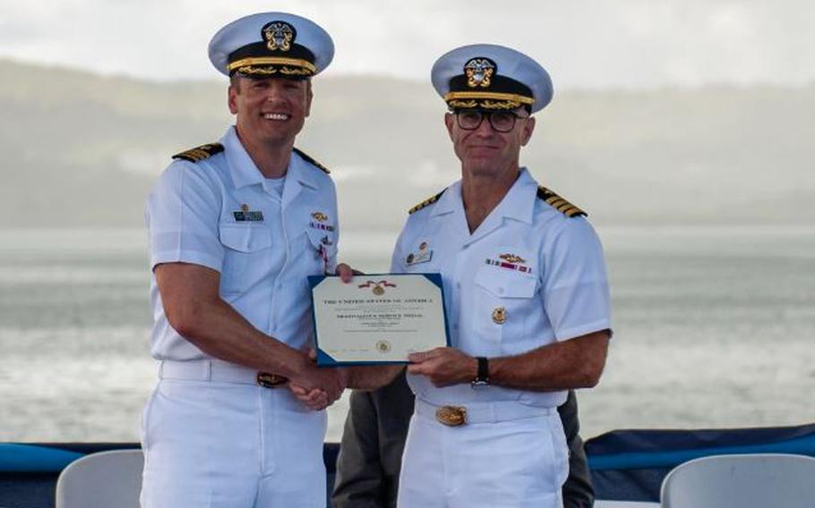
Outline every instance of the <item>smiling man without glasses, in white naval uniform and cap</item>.
{"label": "smiling man without glasses, in white naval uniform and cap", "polygon": [[258,13],[209,53],[235,124],[176,155],[146,211],[160,370],[142,507],[322,507],[326,415],[313,410],[349,381],[308,357],[306,276],[336,269],[339,225],[329,171],[294,143],[334,47],[312,21]]}

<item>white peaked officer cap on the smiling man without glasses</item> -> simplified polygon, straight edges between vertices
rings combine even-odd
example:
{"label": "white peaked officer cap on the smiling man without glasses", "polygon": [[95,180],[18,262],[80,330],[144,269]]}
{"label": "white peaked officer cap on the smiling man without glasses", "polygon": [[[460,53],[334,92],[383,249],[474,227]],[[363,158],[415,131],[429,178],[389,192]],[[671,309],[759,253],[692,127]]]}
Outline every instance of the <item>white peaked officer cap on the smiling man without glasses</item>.
{"label": "white peaked officer cap on the smiling man without glasses", "polygon": [[304,79],[328,67],[333,57],[328,32],[288,13],[245,16],[210,40],[210,62],[227,76]]}

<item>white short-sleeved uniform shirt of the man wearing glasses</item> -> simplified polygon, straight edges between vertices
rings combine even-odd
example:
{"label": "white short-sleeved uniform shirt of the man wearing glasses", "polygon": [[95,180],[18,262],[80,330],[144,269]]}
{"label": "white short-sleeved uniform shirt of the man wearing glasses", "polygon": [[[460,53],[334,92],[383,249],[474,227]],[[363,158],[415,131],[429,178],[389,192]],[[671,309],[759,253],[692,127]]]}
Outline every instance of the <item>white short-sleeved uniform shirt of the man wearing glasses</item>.
{"label": "white short-sleeved uniform shirt of the man wearing glasses", "polygon": [[[442,275],[451,345],[471,356],[510,356],[611,328],[603,250],[585,217],[570,218],[537,198],[525,168],[501,203],[470,233],[455,182],[411,214],[391,271]],[[503,257],[503,258],[502,258]],[[433,405],[518,400],[555,407],[566,392],[500,386],[443,388],[408,375]]]}

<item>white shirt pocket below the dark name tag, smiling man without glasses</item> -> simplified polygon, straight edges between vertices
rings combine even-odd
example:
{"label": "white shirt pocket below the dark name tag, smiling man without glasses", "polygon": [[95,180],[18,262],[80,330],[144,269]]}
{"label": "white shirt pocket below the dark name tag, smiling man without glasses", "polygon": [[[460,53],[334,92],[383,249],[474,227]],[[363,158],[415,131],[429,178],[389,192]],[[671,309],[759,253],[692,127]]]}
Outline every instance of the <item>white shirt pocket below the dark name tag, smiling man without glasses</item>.
{"label": "white shirt pocket below the dark name tag, smiling man without glasses", "polygon": [[271,265],[271,232],[253,224],[221,224],[224,262],[221,294],[245,292],[268,275]]}

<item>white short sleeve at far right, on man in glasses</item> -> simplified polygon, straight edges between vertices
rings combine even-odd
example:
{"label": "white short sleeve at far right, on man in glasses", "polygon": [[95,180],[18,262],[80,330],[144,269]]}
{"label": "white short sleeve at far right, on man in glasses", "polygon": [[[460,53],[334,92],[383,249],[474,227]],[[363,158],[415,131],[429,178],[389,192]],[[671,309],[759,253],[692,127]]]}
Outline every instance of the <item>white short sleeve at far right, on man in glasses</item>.
{"label": "white short sleeve at far right, on man in glasses", "polygon": [[544,306],[559,341],[611,328],[611,295],[603,247],[594,228],[580,218],[567,219],[547,239]]}

